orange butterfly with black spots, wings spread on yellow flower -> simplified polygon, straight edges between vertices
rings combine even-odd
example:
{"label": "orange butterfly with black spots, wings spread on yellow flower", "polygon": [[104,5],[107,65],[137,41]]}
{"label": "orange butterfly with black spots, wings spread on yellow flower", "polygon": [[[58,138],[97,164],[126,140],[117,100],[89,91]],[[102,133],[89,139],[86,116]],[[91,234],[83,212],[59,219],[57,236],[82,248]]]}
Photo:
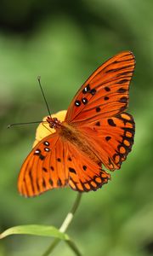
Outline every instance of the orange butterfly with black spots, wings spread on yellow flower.
{"label": "orange butterfly with black spots, wings spread on yellow flower", "polygon": [[27,197],[70,186],[88,192],[111,179],[133,146],[135,125],[126,113],[134,55],[123,51],[105,61],[82,84],[65,119],[48,116],[55,132],[32,148],[21,166],[18,189]]}

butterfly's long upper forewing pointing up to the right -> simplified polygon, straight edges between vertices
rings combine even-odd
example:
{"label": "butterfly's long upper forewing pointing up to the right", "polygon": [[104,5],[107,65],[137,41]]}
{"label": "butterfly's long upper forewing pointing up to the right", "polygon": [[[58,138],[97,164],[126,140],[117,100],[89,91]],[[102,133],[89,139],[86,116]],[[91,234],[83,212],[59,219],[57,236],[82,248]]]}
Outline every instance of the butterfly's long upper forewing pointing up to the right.
{"label": "butterfly's long upper forewing pointing up to the right", "polygon": [[130,51],[105,61],[78,90],[65,121],[77,125],[83,121],[89,124],[125,111],[134,65],[134,56]]}

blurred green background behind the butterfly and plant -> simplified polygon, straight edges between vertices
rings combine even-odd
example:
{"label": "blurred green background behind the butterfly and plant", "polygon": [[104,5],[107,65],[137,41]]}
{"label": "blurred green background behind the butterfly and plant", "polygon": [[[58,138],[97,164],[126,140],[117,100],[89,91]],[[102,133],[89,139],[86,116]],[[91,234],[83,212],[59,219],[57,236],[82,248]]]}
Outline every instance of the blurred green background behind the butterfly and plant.
{"label": "blurred green background behind the butterfly and plant", "polygon": [[[66,109],[95,68],[129,49],[136,57],[128,112],[136,122],[133,151],[109,184],[84,194],[68,230],[83,255],[153,255],[153,2],[152,0],[1,0],[0,8],[0,230],[18,224],[59,227],[76,197],[57,189],[25,199],[16,183],[37,125],[14,122]],[[50,239],[9,236],[0,255],[41,256]],[[64,242],[54,256],[71,256]]]}

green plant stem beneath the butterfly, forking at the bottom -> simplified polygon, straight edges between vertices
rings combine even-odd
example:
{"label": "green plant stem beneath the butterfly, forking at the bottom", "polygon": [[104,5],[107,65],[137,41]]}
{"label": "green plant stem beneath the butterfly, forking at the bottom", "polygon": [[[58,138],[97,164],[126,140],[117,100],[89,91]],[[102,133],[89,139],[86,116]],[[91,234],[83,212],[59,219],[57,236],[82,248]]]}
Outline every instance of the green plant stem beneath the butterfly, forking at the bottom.
{"label": "green plant stem beneath the butterfly, forking at the bottom", "polygon": [[[71,211],[68,212],[64,222],[61,224],[61,226],[59,228],[60,232],[65,233],[65,230],[67,230],[68,226],[71,224],[72,218],[74,217],[74,214],[77,211],[77,208],[80,204],[81,197],[82,197],[82,193],[78,192],[77,198],[71,208]],[[42,254],[42,256],[48,256],[50,253],[52,253],[54,250],[54,247],[56,247],[59,244],[59,241],[60,241],[59,238],[55,238],[54,241],[52,241],[51,245],[46,250],[46,252]],[[66,242],[71,247],[73,252],[76,253],[77,256],[81,256],[81,253],[79,252],[79,250],[77,249],[77,246],[75,245],[75,243],[73,241],[68,240]]]}

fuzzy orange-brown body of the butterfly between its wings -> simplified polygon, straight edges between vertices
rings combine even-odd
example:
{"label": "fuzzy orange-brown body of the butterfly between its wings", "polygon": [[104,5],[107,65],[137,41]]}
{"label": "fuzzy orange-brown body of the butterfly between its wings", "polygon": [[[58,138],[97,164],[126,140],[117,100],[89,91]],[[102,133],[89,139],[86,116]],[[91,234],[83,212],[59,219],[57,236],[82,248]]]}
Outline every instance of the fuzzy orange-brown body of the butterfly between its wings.
{"label": "fuzzy orange-brown body of the butterfly between its wings", "polygon": [[76,127],[69,125],[65,122],[62,123],[59,135],[64,139],[75,145],[83,154],[86,154],[95,163],[100,164],[100,160],[96,154],[94,154],[94,148],[88,144],[86,137],[77,130]]}

